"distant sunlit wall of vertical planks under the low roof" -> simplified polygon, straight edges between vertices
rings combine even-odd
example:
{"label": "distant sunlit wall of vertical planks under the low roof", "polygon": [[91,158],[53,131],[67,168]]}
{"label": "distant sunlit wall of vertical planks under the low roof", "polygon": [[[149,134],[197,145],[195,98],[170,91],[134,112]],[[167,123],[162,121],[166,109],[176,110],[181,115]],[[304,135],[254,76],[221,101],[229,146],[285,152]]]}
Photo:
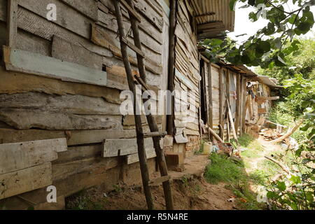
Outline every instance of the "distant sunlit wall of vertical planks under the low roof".
{"label": "distant sunlit wall of vertical planks under the low roof", "polygon": [[[244,121],[246,117],[245,108],[247,100],[246,76],[235,73],[229,68],[218,64],[204,62],[204,69],[208,69],[206,78],[207,87],[207,111],[209,113],[208,125],[215,132],[221,134],[224,139],[233,139],[231,125],[228,125],[228,104],[230,103],[232,118],[235,121],[235,130],[240,136],[244,133]],[[209,87],[210,86],[210,87]],[[223,133],[220,133],[220,127]]]}

